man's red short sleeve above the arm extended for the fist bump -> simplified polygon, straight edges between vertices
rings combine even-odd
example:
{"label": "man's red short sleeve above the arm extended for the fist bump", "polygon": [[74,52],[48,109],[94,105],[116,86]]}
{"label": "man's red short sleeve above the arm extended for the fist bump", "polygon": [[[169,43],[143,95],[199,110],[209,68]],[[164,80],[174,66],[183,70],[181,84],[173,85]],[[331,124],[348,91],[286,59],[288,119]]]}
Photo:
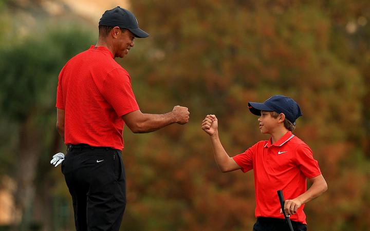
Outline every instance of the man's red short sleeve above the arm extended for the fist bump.
{"label": "man's red short sleeve above the arm extended for the fist bump", "polygon": [[119,117],[139,110],[131,87],[130,75],[123,68],[110,71],[103,83],[102,94]]}

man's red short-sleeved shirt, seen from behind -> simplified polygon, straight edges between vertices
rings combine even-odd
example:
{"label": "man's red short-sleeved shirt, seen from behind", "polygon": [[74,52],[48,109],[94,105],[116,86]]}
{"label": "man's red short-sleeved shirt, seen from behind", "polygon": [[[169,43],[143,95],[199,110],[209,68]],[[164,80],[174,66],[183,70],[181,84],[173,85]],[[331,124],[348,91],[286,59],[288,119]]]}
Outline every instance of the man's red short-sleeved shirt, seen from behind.
{"label": "man's red short-sleeved shirt, seen from behind", "polygon": [[72,57],[59,74],[57,108],[65,110],[66,144],[123,148],[121,116],[138,110],[130,75],[106,47]]}

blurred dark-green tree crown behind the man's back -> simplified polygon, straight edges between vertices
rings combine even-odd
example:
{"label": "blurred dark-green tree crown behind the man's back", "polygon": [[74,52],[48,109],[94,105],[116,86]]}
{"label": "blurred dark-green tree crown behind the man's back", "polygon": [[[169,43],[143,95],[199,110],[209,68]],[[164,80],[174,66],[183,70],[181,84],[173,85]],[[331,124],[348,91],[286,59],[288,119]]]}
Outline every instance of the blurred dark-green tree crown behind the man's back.
{"label": "blurred dark-green tree crown behind the man's back", "polygon": [[87,47],[86,32],[74,29],[4,47],[0,51],[2,111],[12,120],[23,121],[32,112],[52,108],[58,72],[70,56],[81,51],[81,44]]}

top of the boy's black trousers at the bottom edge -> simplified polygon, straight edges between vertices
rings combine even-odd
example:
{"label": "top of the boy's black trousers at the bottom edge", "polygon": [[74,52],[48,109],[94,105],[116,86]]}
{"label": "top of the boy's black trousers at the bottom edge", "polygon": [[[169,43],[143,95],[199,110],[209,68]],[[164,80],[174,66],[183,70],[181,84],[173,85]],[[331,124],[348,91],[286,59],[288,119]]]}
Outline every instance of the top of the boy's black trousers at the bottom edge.
{"label": "top of the boy's black trousers at the bottom edge", "polygon": [[[307,225],[291,221],[294,231],[306,231]],[[289,231],[288,222],[285,219],[258,217],[253,226],[253,231]]]}

